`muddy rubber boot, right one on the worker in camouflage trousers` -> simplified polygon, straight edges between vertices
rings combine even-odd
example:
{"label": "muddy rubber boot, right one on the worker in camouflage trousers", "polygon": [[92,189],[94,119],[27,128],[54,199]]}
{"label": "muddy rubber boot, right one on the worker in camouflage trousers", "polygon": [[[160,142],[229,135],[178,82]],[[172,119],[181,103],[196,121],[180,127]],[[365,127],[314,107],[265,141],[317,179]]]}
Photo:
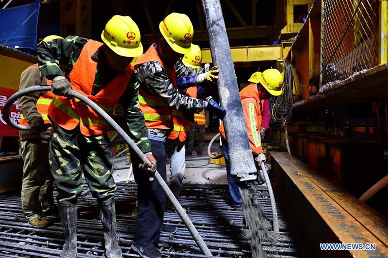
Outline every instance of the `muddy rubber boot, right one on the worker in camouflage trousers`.
{"label": "muddy rubber boot, right one on the worker in camouflage trousers", "polygon": [[116,236],[116,212],[114,209],[114,200],[108,203],[100,204],[100,214],[102,228],[105,240],[105,257],[121,258],[123,256],[120,247],[117,244]]}

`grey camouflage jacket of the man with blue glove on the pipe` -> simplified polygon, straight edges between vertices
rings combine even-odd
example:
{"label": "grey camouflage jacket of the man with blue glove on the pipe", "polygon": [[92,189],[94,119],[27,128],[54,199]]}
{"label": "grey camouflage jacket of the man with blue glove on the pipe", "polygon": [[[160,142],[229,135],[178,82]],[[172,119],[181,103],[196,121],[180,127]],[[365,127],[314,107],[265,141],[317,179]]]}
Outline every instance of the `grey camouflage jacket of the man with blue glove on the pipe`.
{"label": "grey camouflage jacket of the man with blue glove on the pipe", "polygon": [[[178,61],[176,67],[176,78],[181,76],[194,76],[203,72],[203,69],[193,69],[185,66]],[[150,61],[143,63],[135,70],[136,81],[141,89],[147,94],[160,96],[168,104],[179,111],[187,113],[187,110],[192,113],[198,112],[205,107],[205,101],[200,99],[190,98],[179,93],[175,89],[167,71],[162,66],[160,61]],[[148,129],[149,136],[166,138],[171,130]]]}

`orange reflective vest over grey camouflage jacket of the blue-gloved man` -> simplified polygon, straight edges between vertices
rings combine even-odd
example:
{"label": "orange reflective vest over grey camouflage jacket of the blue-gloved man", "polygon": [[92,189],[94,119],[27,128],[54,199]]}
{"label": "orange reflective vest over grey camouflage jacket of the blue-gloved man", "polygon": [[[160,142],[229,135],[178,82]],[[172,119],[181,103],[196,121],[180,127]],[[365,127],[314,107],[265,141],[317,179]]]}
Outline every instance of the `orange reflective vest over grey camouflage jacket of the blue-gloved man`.
{"label": "orange reflective vest over grey camouflage jacket of the blue-gloved man", "polygon": [[[167,74],[170,78],[171,83],[177,88],[177,82],[175,78],[175,67],[173,69],[167,68],[159,57],[158,51],[155,49],[155,44],[150,46],[146,53],[139,58],[135,64],[135,69],[139,67],[140,64],[150,62],[150,61],[160,61],[163,68],[167,71]],[[158,128],[164,130],[171,130],[173,121],[172,121],[172,110],[171,106],[162,99],[162,97],[157,95],[151,95],[146,93],[142,88],[139,90],[139,103],[140,110],[144,114],[144,119],[146,121],[147,128]]]}

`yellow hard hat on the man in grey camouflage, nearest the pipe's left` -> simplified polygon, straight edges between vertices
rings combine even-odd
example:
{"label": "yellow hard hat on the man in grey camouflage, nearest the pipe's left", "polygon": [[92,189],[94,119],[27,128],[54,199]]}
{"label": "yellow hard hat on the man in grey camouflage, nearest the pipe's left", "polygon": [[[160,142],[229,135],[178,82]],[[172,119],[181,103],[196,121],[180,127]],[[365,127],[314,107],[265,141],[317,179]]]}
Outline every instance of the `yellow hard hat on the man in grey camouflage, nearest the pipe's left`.
{"label": "yellow hard hat on the man in grey camouflage, nearest the pipe's left", "polygon": [[190,18],[185,14],[171,13],[159,24],[163,38],[179,54],[191,51],[194,29]]}

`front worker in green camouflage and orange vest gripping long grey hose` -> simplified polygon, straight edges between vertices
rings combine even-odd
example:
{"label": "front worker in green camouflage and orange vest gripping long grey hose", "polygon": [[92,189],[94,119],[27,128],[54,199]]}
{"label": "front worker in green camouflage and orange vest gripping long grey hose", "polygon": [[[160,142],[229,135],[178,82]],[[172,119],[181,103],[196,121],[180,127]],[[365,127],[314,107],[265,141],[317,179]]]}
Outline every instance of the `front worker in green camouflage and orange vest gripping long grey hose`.
{"label": "front worker in green camouflage and orange vest gripping long grey hose", "polygon": [[[71,89],[86,95],[112,114],[120,100],[129,136],[151,163],[142,164],[147,180],[153,180],[155,159],[147,138],[144,116],[134,87],[133,57],[142,55],[140,31],[129,16],[114,15],[101,33],[103,43],[78,36],[42,41],[37,46],[42,76],[52,79],[55,95],[49,106],[53,134],[49,160],[58,189],[57,203],[64,228],[61,257],[77,257],[77,198],[82,192],[81,170],[93,197],[97,198],[105,240],[105,256],[122,257],[117,244],[110,125],[91,107],[69,97]],[[65,76],[58,64],[68,63]],[[145,174],[146,174],[145,173]]]}

